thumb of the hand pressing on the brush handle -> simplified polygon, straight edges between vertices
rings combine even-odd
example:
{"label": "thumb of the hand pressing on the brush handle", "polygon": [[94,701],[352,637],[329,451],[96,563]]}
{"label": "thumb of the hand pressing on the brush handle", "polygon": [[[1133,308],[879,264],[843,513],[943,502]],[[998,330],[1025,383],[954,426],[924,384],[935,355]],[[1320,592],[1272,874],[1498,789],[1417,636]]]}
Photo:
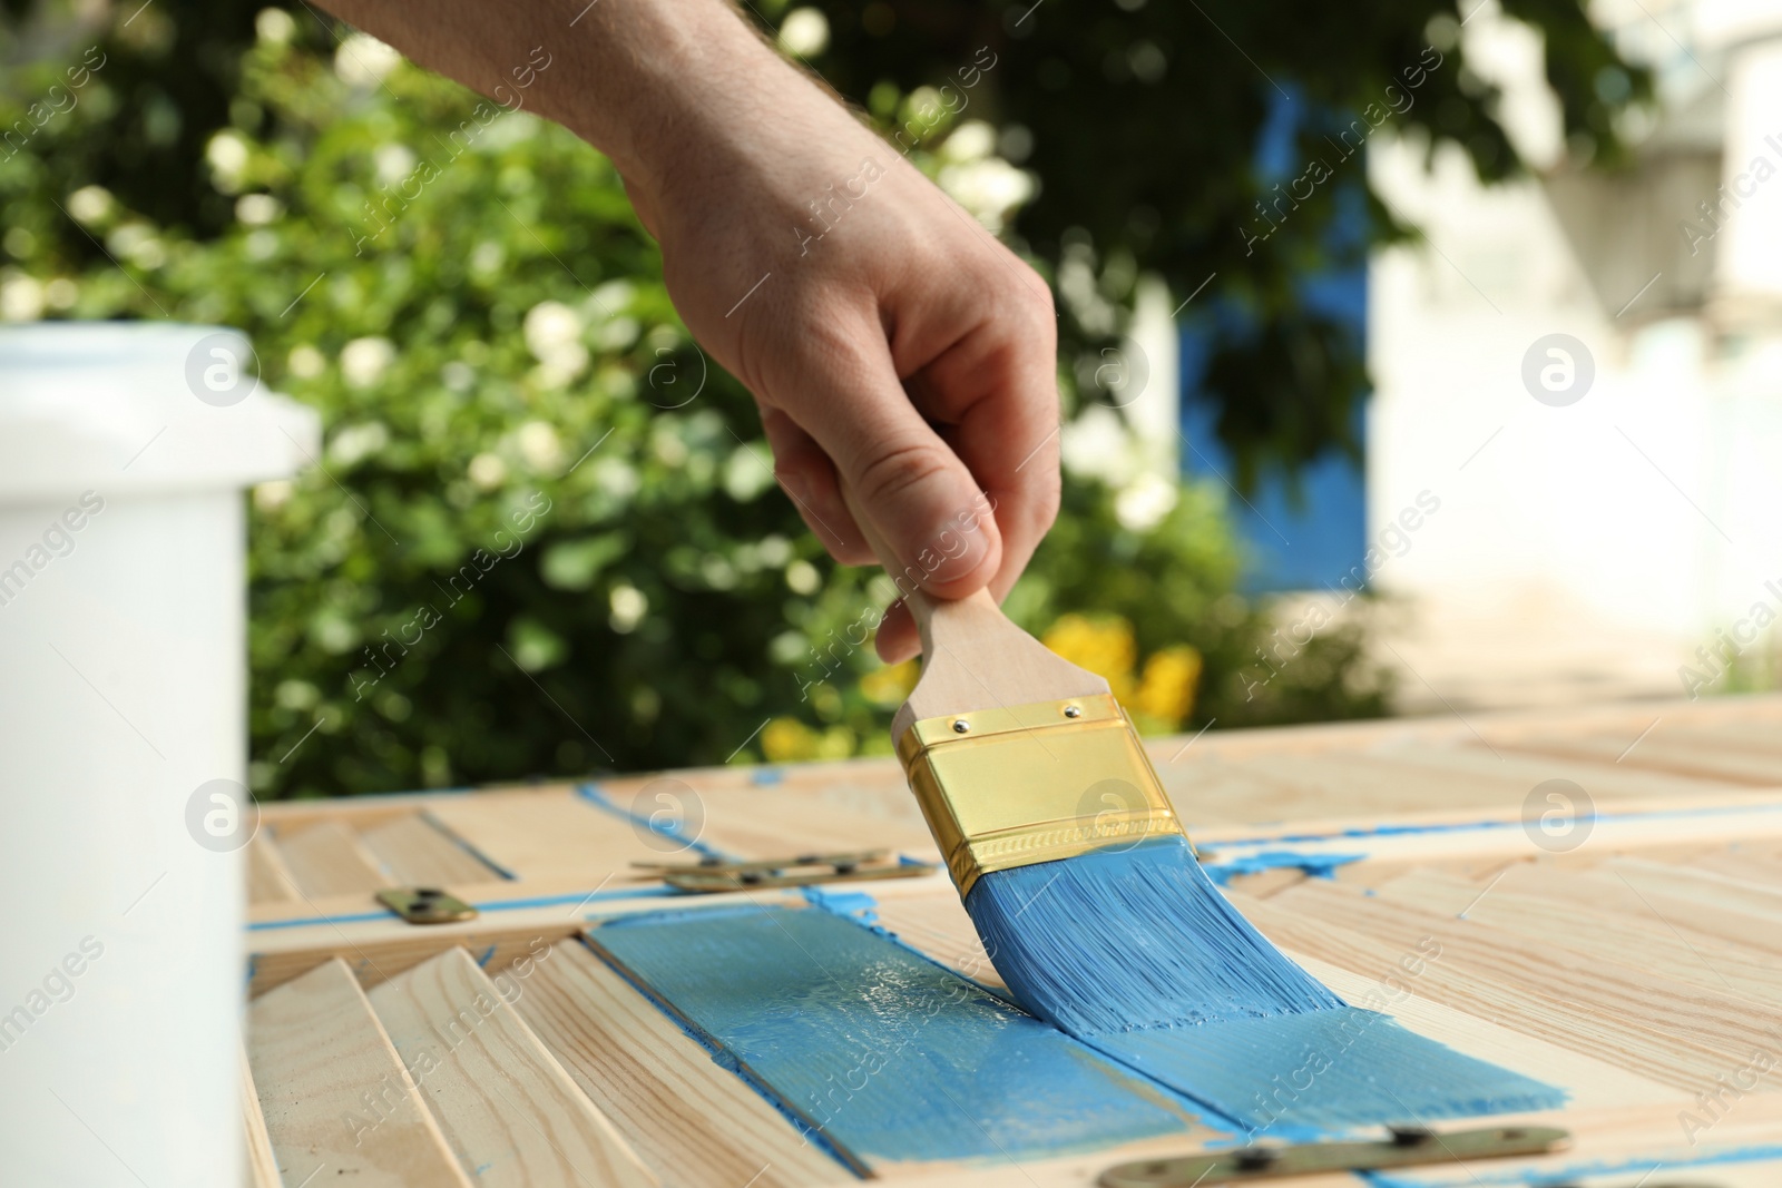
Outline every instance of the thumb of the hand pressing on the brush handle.
{"label": "thumb of the hand pressing on the brush handle", "polygon": [[830,392],[807,429],[898,595],[962,598],[987,586],[1001,565],[991,500],[911,404],[889,353]]}

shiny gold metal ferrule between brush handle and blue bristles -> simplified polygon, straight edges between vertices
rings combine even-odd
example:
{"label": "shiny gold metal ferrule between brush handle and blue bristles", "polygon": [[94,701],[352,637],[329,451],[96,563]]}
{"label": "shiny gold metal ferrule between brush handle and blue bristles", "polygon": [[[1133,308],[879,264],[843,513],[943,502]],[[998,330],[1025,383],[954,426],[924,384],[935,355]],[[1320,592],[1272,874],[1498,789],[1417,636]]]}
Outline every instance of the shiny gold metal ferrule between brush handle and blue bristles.
{"label": "shiny gold metal ferrule between brush handle and blue bristles", "polygon": [[896,752],[960,898],[989,871],[1183,834],[1105,693],[923,718]]}

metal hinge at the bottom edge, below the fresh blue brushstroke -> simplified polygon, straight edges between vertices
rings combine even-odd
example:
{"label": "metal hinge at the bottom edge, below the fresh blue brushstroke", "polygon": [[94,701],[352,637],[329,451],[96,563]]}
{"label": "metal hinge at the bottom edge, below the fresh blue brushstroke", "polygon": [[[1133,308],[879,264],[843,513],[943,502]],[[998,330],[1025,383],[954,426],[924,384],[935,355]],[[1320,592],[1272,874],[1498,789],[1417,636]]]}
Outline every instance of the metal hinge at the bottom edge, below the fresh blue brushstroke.
{"label": "metal hinge at the bottom edge, below the fresh blue brushstroke", "polygon": [[1493,1126],[1436,1133],[1422,1126],[1390,1127],[1377,1142],[1253,1145],[1173,1160],[1137,1160],[1101,1172],[1101,1188],[1192,1188],[1317,1172],[1372,1172],[1417,1163],[1461,1163],[1502,1156],[1549,1154],[1572,1143],[1550,1126]]}

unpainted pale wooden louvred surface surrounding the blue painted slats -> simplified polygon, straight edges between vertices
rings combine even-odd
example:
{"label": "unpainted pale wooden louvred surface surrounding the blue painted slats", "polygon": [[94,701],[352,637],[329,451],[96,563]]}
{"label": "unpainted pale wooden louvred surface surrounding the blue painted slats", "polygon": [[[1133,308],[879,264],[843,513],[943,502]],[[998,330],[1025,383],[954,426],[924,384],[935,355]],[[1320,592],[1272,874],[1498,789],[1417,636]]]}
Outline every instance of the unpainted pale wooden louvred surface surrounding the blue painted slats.
{"label": "unpainted pale wooden louvred surface surrounding the blue painted slats", "polygon": [[[1632,1188],[1654,1165],[1645,1188],[1782,1183],[1777,1158],[1702,1163],[1778,1142],[1782,1063],[1711,1126],[1682,1124],[1753,1051],[1782,1060],[1782,698],[1208,732],[1149,750],[1203,862],[1288,955],[1349,1001],[1568,1090],[1565,1110],[1529,1119],[1572,1129],[1566,1156],[1401,1172],[1404,1183],[1458,1188],[1490,1170],[1484,1183],[1515,1172]],[[1540,828],[1549,780],[1584,798],[1572,832]],[[677,828],[652,830],[658,812]],[[330,1167],[312,1188],[850,1181],[579,933],[670,903],[634,862],[864,846],[934,858],[895,761],[267,805],[248,851],[248,1046],[283,1184],[319,1163]],[[399,883],[446,885],[481,915],[410,926],[371,899]],[[998,985],[944,876],[859,891],[880,928]],[[802,898],[672,903],[727,901]],[[1429,944],[1440,958],[1408,974],[1404,955]],[[476,1051],[463,1046],[460,1076],[438,1095],[405,1094],[353,1145],[340,1111],[364,1110],[353,1103],[380,1078],[406,1076],[405,1037],[426,1042],[449,1006],[490,987],[508,997],[495,1026],[472,1031]],[[542,1135],[588,1154],[554,1158]],[[1169,1149],[1203,1142],[1185,1133]],[[914,1179],[1082,1188],[1133,1154]],[[583,1160],[604,1170],[565,1179]],[[1607,1174],[1574,1174],[1584,1167]]]}

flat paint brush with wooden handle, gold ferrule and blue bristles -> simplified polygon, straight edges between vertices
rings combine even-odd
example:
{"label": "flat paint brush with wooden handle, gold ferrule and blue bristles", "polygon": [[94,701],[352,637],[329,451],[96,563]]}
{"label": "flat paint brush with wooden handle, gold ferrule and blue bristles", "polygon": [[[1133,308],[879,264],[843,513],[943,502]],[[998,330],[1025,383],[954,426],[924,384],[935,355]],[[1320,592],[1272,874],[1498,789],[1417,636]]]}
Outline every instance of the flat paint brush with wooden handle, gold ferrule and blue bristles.
{"label": "flat paint brush with wooden handle, gold ferrule and blue bristles", "polygon": [[1016,627],[989,591],[905,602],[923,666],[893,720],[896,753],[1028,1012],[1092,1037],[1342,1006],[1199,869],[1107,680]]}

